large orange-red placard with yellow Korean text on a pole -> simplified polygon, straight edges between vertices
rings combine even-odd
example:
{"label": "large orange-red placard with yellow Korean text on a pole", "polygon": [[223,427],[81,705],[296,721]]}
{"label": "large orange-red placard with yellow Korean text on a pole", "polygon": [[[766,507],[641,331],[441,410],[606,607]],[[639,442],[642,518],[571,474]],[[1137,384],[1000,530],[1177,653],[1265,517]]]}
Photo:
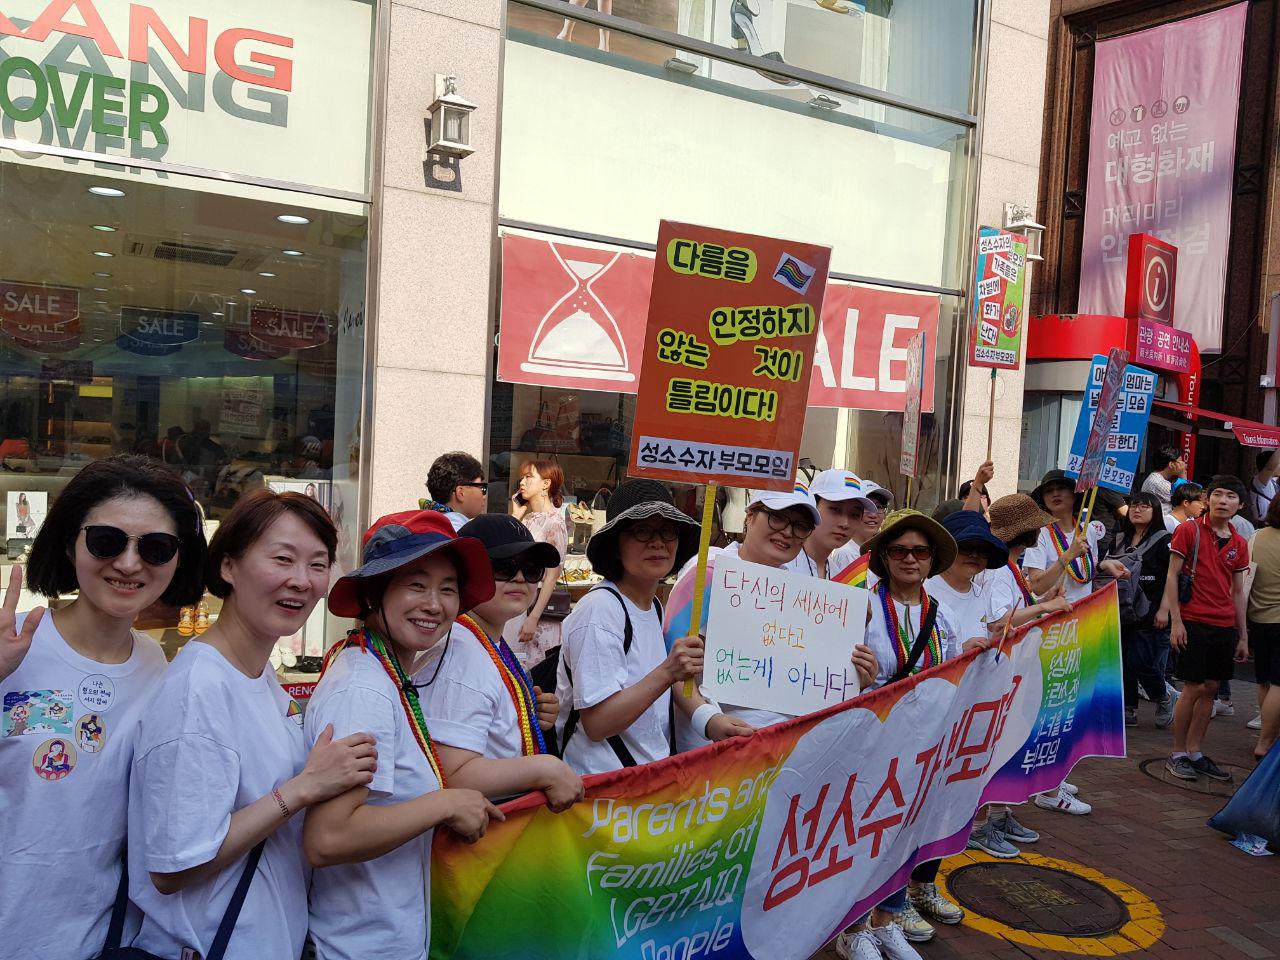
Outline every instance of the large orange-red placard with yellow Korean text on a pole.
{"label": "large orange-red placard with yellow Korean text on a pole", "polygon": [[663,220],[631,476],[790,490],[831,248]]}

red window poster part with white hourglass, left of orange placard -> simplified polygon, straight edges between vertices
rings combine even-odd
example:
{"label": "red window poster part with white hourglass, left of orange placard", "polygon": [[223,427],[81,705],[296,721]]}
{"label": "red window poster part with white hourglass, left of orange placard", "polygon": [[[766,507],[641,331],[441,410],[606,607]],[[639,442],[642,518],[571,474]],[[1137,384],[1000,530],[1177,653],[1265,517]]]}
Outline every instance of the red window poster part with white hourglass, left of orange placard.
{"label": "red window poster part with white hourglass, left of orange placard", "polygon": [[498,378],[634,392],[653,260],[507,234]]}

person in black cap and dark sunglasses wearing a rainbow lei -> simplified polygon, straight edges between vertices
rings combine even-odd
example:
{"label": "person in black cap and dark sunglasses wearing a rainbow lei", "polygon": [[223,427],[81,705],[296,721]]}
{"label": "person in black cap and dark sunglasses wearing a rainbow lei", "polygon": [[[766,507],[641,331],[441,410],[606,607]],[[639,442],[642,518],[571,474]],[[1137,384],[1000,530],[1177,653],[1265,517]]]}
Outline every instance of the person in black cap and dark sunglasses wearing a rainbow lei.
{"label": "person in black cap and dark sunglasses wearing a rainbow lei", "polygon": [[541,790],[552,810],[567,810],[582,799],[582,780],[547,751],[543,735],[554,727],[559,701],[534,686],[502,639],[502,628],[525,614],[543,577],[559,566],[559,552],[504,513],[481,513],[458,535],[484,544],[495,589],[458,616],[415,677],[424,684],[422,713],[444,776],[488,797]]}

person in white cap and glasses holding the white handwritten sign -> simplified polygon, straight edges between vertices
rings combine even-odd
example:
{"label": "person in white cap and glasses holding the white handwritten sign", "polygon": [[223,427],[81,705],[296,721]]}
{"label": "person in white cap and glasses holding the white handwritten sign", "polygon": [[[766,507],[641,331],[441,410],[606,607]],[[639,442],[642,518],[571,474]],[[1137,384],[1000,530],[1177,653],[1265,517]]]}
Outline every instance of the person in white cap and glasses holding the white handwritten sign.
{"label": "person in white cap and glasses holding the white handwritten sign", "polygon": [[[786,567],[800,553],[804,541],[822,521],[818,513],[818,504],[814,503],[810,493],[803,484],[796,484],[795,489],[787,492],[763,492],[753,495],[746,508],[746,527],[742,543],[732,543],[722,550],[714,550],[707,561],[707,577],[714,570],[714,559],[722,554],[737,554],[750,563],[760,563],[767,567]],[[681,591],[681,580],[698,575],[696,557],[685,564],[672,589],[672,596]],[[671,616],[667,618],[667,643],[672,643],[686,634],[707,634],[707,614],[710,604],[703,604],[703,617],[699,628],[691,628],[689,613],[684,617]],[[678,613],[676,611],[672,612]],[[865,644],[858,644],[850,657],[858,669],[859,685],[868,687],[879,673],[879,664],[876,654]],[[774,713],[773,710],[760,710],[737,704],[718,704],[707,698],[700,689],[692,696],[686,698],[684,685],[676,687],[676,698],[681,703],[681,709],[676,712],[676,748],[680,751],[692,750],[710,742],[708,724],[712,723],[710,736],[723,740],[730,736],[749,735],[758,727],[767,727],[772,723],[791,719],[788,714]],[[689,717],[689,721],[684,721]],[[724,723],[722,717],[727,717],[731,723]],[[714,723],[713,723],[714,721]]]}

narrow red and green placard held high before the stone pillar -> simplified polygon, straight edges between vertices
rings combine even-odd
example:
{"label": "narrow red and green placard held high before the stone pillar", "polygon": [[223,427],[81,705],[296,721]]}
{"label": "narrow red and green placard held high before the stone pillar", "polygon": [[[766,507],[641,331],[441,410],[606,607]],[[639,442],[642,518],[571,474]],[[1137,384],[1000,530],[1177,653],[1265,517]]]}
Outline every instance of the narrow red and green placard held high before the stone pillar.
{"label": "narrow red and green placard held high before the stone pillar", "polygon": [[983,227],[974,257],[969,366],[1016,370],[1023,356],[1027,238]]}

